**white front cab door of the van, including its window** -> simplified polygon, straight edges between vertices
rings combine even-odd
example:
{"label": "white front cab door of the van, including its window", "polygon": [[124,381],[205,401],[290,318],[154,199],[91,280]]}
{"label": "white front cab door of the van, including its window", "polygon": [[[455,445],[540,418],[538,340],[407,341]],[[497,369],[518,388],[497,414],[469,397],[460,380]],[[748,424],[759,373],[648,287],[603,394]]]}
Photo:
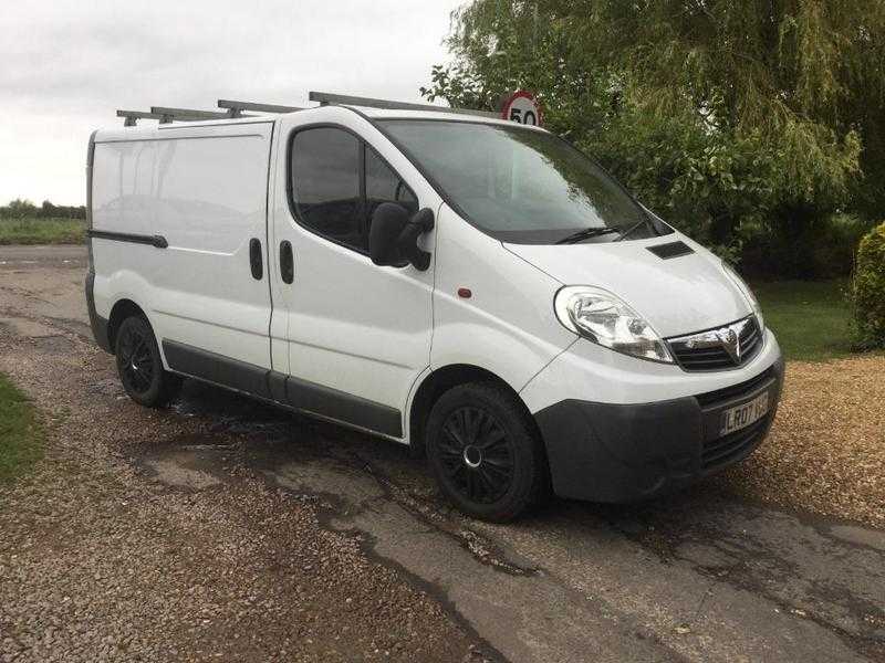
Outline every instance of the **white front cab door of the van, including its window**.
{"label": "white front cab door of the van, including its window", "polygon": [[[403,411],[429,365],[434,264],[379,267],[368,256],[372,212],[439,207],[437,193],[363,117],[344,109],[281,120],[273,194],[274,365],[296,408],[404,436]],[[433,233],[423,240],[433,248]],[[291,246],[290,278],[280,256]],[[285,262],[285,259],[284,259]]]}

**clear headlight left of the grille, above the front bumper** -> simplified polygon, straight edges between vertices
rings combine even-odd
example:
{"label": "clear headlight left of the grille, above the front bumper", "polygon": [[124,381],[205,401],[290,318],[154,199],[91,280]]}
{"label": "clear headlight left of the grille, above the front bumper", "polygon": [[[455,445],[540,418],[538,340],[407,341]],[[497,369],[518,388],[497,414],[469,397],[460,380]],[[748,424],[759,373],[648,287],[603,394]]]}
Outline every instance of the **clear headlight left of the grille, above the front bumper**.
{"label": "clear headlight left of the grille, above the front bumper", "polygon": [[587,285],[561,288],[553,302],[566,329],[618,352],[673,364],[667,346],[635,311],[610,292]]}

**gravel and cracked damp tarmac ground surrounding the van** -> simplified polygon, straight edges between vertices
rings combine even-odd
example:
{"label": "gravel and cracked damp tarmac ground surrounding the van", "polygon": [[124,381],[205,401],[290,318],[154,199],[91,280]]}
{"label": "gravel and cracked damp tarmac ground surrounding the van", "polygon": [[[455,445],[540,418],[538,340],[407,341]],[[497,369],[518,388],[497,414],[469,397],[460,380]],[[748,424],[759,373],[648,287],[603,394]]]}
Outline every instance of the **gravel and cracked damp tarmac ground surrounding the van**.
{"label": "gravel and cracked damp tarmac ground surrounding the van", "polygon": [[0,661],[885,661],[882,429],[829,443],[820,365],[726,476],[487,525],[397,445],[197,383],[134,406],[86,335],[82,250],[29,251],[0,250],[0,370],[50,444],[0,487]]}

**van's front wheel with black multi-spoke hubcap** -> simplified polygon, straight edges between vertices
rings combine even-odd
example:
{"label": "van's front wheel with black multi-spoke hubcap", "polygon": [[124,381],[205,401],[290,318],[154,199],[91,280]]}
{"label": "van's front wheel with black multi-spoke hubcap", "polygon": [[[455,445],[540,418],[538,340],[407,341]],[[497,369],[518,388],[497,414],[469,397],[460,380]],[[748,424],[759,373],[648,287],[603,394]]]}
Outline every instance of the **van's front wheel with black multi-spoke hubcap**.
{"label": "van's front wheel with black multi-spoke hubcap", "polygon": [[491,382],[446,391],[430,410],[426,448],[446,496],[483,520],[516,518],[542,496],[549,481],[531,418]]}

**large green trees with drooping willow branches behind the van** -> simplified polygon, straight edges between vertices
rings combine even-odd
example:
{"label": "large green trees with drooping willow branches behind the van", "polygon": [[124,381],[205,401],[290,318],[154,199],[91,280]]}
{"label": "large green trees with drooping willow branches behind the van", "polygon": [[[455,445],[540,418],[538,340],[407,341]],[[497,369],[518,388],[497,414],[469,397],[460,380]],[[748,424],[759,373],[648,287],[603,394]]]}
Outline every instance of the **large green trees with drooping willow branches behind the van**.
{"label": "large green trees with drooping willow branches behind the van", "polygon": [[879,0],[473,0],[447,43],[425,96],[533,90],[551,130],[727,256],[885,204]]}

